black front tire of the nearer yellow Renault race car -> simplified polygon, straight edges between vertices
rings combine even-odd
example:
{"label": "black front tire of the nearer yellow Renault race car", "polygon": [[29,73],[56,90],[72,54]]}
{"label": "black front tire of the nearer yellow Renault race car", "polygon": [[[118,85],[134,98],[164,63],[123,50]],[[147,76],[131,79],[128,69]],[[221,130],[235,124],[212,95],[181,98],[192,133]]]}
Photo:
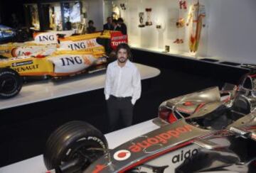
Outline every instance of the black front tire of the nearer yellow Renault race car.
{"label": "black front tire of the nearer yellow Renault race car", "polygon": [[0,69],[0,99],[16,96],[22,88],[23,80],[14,69]]}

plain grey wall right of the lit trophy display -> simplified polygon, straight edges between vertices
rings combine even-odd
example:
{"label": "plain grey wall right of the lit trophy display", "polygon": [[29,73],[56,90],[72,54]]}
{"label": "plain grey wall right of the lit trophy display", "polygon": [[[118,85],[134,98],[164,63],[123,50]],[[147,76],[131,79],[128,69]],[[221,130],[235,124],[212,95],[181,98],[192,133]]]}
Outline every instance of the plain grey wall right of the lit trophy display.
{"label": "plain grey wall right of the lit trophy display", "polygon": [[208,55],[256,64],[256,1],[208,1]]}

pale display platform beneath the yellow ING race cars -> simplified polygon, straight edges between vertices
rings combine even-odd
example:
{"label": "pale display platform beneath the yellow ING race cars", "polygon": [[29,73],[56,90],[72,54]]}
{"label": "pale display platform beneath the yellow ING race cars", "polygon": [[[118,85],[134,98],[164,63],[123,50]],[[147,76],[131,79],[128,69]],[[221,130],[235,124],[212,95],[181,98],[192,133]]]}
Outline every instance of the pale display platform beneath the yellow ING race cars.
{"label": "pale display platform beneath the yellow ING race cars", "polygon": [[[149,79],[160,74],[160,70],[154,67],[140,64],[136,64],[136,66],[142,79]],[[21,92],[14,98],[0,100],[0,110],[102,89],[104,86],[105,71],[81,74],[80,76],[61,79],[60,81],[42,80],[28,83],[24,84]]]}

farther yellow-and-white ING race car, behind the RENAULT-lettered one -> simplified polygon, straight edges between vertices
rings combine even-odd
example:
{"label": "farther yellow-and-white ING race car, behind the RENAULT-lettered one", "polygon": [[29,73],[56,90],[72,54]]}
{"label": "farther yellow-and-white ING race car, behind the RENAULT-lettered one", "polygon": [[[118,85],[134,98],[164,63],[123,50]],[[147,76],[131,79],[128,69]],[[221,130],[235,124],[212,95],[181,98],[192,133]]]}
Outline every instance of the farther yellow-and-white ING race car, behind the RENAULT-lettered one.
{"label": "farther yellow-and-white ING race car, behind the RENAULT-lettered one", "polygon": [[37,33],[34,40],[25,43],[6,43],[0,45],[0,57],[11,58],[31,55],[36,52],[54,52],[60,50],[86,50],[88,48],[99,48],[108,46],[110,32],[99,32],[85,35],[75,35],[58,38],[56,33]]}

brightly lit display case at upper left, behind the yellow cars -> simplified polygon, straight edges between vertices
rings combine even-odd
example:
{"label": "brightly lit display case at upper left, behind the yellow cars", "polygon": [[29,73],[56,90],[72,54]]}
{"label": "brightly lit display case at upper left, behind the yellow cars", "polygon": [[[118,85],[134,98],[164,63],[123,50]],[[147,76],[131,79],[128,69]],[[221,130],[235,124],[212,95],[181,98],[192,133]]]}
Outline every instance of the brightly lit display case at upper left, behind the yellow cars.
{"label": "brightly lit display case at upper left, behind the yellow cars", "polygon": [[24,4],[26,26],[32,30],[76,30],[86,27],[87,2],[53,1]]}

